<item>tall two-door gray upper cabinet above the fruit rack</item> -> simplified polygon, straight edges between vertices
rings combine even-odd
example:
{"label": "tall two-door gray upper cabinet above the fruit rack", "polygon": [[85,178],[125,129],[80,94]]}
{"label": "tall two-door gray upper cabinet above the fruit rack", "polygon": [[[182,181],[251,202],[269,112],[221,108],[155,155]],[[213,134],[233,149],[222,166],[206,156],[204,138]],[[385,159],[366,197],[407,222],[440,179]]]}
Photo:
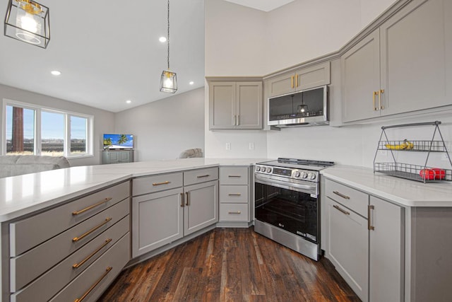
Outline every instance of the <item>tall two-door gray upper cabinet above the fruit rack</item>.
{"label": "tall two-door gray upper cabinet above the fruit rack", "polygon": [[345,52],[343,122],[452,105],[451,9],[413,0]]}

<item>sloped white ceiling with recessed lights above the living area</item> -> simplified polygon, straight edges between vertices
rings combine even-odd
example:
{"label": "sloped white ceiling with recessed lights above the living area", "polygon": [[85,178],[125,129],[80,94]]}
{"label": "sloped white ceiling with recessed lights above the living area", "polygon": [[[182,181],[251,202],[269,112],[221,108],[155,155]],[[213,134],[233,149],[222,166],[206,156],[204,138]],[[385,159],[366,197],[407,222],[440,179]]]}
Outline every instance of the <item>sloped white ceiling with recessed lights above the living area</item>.
{"label": "sloped white ceiling with recessed lights above the living area", "polygon": [[[166,43],[158,40],[167,33],[166,0],[38,2],[49,7],[49,45],[1,34],[0,83],[112,112],[172,95],[159,91],[167,68]],[[203,86],[204,0],[170,1],[170,38],[177,93]],[[50,74],[55,69],[61,76]]]}

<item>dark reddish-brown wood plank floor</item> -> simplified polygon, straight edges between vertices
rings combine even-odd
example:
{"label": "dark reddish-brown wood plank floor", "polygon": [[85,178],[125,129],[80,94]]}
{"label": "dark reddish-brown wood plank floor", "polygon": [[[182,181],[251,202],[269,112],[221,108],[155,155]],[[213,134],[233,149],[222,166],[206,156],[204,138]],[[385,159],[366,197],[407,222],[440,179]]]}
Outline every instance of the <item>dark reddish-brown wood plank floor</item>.
{"label": "dark reddish-brown wood plank floor", "polygon": [[121,272],[99,301],[360,301],[331,262],[215,228]]}

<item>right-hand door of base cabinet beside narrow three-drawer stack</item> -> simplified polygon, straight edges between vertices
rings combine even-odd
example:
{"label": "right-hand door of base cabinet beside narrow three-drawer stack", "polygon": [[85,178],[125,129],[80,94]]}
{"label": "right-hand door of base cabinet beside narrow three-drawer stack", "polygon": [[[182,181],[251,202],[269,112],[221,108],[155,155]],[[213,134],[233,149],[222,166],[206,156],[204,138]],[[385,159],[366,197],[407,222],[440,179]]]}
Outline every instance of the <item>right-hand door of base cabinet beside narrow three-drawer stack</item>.
{"label": "right-hand door of base cabinet beside narrow three-drawer stack", "polygon": [[218,221],[218,180],[184,187],[184,236]]}

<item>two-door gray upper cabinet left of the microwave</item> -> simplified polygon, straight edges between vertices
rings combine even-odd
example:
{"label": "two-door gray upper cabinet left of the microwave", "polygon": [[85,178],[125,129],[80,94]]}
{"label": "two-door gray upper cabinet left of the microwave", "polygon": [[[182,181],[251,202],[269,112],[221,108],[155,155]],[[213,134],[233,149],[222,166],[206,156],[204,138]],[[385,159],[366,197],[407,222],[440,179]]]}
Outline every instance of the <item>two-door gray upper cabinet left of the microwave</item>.
{"label": "two-door gray upper cabinet left of the microwave", "polygon": [[262,129],[262,82],[210,82],[209,129]]}

